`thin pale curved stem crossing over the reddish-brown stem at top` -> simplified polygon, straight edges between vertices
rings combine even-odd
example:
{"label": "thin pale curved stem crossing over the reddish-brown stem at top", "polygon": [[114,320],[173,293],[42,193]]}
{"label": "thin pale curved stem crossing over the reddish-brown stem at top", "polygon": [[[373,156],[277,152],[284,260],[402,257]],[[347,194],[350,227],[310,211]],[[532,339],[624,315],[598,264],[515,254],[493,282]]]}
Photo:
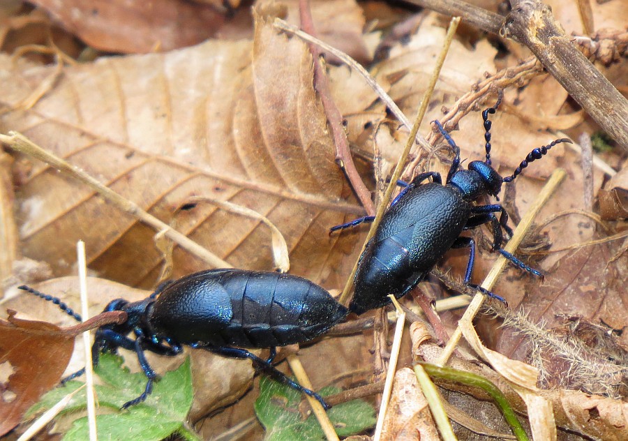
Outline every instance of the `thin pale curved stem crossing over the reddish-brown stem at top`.
{"label": "thin pale curved stem crossing over the reddish-brown stem at top", "polygon": [[[386,91],[384,91],[384,89],[382,89],[382,87],[379,84],[377,84],[377,82],[373,79],[373,77],[371,77],[371,74],[368,73],[368,71],[364,67],[362,67],[360,63],[358,63],[357,61],[349,57],[344,52],[337,50],[335,47],[332,47],[328,45],[327,43],[324,43],[323,41],[319,40],[318,38],[315,38],[309,35],[308,33],[301,31],[299,28],[294,27],[291,24],[287,24],[280,18],[275,19],[273,26],[276,27],[277,29],[281,29],[282,31],[292,33],[293,35],[301,38],[301,40],[307,41],[308,43],[313,43],[317,45],[318,47],[324,49],[325,51],[329,52],[330,54],[334,54],[336,57],[338,57],[338,59],[341,59],[343,63],[345,63],[350,68],[356,70],[357,73],[359,73],[360,75],[362,75],[362,77],[364,77],[366,84],[371,86],[371,88],[375,91],[377,96],[380,97],[380,100],[382,100],[382,102],[386,105],[386,107],[389,108],[390,112],[394,114],[396,119],[399,122],[401,122],[403,126],[408,128],[408,130],[410,129],[410,127],[412,127],[412,123],[410,122],[410,119],[405,117],[405,114],[401,112],[401,109],[399,108],[399,106],[395,104],[392,98],[388,96]],[[428,151],[431,150],[430,144],[426,142],[424,137],[422,137],[418,133],[415,135],[415,137],[416,137],[417,144],[419,144],[424,149],[427,149]]]}

